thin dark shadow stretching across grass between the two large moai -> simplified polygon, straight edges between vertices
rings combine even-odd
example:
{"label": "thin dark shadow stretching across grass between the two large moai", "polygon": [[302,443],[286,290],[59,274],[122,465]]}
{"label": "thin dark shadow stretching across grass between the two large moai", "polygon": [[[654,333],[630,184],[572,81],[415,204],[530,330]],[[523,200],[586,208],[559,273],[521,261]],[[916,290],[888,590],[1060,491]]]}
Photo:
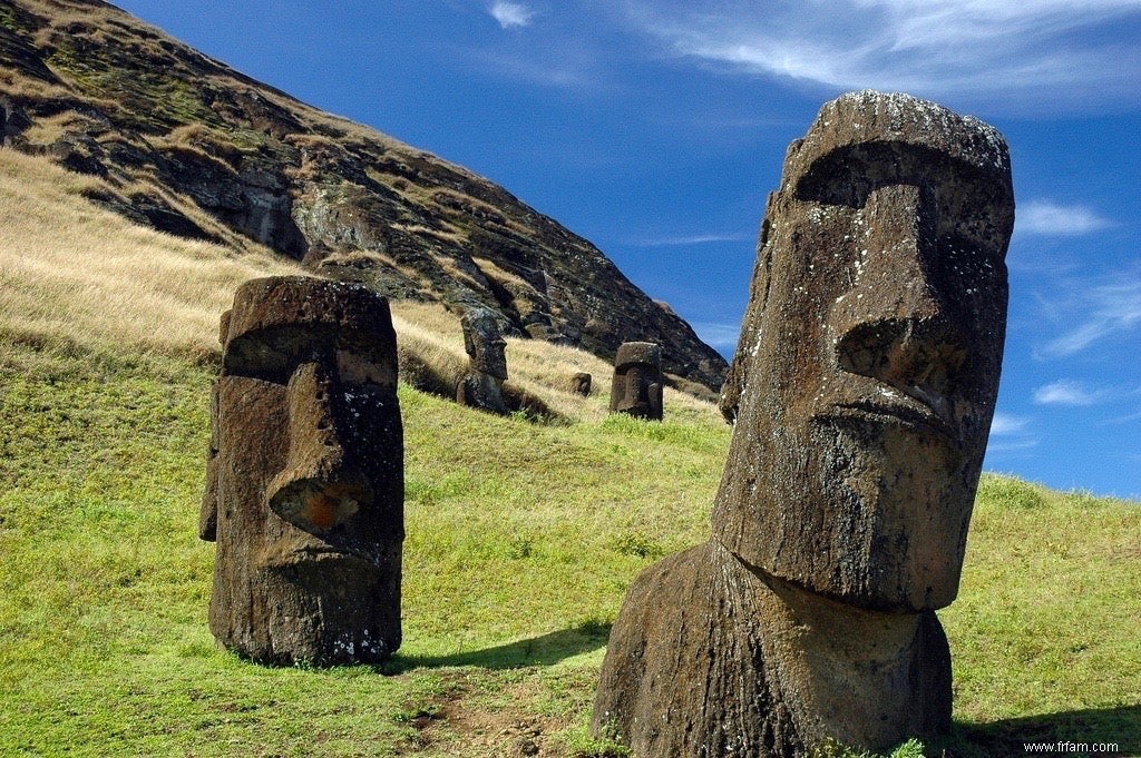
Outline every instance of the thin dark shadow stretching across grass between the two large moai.
{"label": "thin dark shadow stretching across grass between the two large moai", "polygon": [[403,674],[414,668],[477,666],[487,669],[551,666],[561,660],[590,653],[606,646],[610,625],[586,622],[572,629],[560,629],[529,639],[472,650],[451,655],[397,655],[386,663],[385,674]]}

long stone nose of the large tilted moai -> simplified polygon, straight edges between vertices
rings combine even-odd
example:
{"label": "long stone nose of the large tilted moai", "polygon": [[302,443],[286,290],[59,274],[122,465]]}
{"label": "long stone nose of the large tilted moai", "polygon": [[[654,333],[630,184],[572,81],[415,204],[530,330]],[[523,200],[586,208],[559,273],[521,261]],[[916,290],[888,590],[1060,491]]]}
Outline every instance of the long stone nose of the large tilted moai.
{"label": "long stone nose of the large tilted moai", "polygon": [[847,372],[890,384],[933,408],[968,359],[968,343],[947,310],[938,263],[933,203],[912,185],[868,195],[859,213],[856,280],[833,307],[835,353]]}

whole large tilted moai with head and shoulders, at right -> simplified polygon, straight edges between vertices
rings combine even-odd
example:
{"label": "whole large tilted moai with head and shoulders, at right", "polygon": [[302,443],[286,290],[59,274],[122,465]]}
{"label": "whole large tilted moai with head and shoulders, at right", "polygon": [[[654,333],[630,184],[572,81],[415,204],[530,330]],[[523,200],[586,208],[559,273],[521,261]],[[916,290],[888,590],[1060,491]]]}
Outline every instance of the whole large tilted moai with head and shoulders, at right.
{"label": "whole large tilted moai with head and shoulders, at right", "polygon": [[592,728],[642,758],[883,750],[950,726],[957,594],[1006,318],[993,128],[826,104],[770,196],[711,540],[634,581]]}

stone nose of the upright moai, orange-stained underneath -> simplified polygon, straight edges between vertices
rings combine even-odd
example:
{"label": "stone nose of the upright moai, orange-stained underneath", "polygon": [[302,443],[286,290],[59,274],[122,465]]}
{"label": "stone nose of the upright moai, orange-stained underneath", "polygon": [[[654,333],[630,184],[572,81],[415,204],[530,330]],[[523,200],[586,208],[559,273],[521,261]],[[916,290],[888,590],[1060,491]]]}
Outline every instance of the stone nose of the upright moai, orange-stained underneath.
{"label": "stone nose of the upright moai, orange-stained underneath", "polygon": [[346,449],[350,419],[339,402],[334,373],[318,362],[299,366],[290,377],[289,457],[266,489],[269,508],[301,529],[322,533],[372,503],[366,476]]}

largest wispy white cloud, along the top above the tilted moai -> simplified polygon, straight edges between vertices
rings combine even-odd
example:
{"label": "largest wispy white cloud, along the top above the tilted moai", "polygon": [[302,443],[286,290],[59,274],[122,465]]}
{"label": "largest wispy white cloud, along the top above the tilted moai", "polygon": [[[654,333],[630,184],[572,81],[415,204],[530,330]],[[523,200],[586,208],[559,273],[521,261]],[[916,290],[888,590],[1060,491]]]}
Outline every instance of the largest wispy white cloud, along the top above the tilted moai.
{"label": "largest wispy white cloud, along the top above the tilted moai", "polygon": [[[929,97],[1031,95],[1039,104],[1141,92],[1141,40],[1114,28],[1141,0],[628,0],[680,56],[830,88]],[[1116,26],[1115,26],[1116,25]],[[1050,98],[1053,98],[1051,100]]]}

